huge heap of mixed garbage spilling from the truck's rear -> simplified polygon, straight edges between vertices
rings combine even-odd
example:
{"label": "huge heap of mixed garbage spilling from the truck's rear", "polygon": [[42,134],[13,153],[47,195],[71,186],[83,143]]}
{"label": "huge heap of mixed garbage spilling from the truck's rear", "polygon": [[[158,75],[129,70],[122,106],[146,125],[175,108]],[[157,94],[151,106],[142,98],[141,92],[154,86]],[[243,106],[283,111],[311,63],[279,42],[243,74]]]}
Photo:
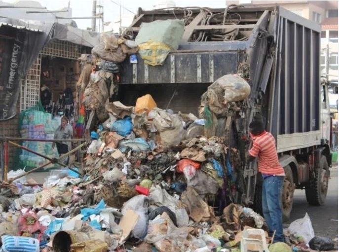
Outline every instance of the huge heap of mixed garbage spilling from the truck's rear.
{"label": "huge heap of mixed garbage spilling from the truck's rear", "polygon": [[[108,103],[106,111],[109,119],[91,132],[82,177],[62,169],[42,186],[2,183],[3,251],[29,244],[32,252],[238,252],[252,229],[272,242],[263,217],[233,203],[238,151],[223,138],[187,134],[203,131],[204,120],[159,109],[151,95],[135,107]],[[287,230],[293,250],[334,247],[314,232],[298,235],[309,230],[308,219]]]}

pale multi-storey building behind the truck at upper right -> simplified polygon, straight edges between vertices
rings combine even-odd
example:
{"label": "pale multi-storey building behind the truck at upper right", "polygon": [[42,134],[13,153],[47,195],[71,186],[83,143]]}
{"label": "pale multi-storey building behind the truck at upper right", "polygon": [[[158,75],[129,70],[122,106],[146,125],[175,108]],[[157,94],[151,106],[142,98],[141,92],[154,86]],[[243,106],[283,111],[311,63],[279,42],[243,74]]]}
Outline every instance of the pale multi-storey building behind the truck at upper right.
{"label": "pale multi-storey building behind the truck at upper right", "polygon": [[338,80],[338,1],[226,1],[226,5],[229,4],[262,6],[278,4],[295,14],[321,24],[320,71],[329,80]]}

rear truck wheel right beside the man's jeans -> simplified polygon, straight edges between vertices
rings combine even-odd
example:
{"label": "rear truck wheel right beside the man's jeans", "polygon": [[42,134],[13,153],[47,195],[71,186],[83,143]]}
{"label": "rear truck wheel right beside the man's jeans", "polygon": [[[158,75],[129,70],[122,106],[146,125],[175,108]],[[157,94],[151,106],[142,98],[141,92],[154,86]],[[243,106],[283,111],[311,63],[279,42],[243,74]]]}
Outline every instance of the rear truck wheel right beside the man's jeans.
{"label": "rear truck wheel right beside the man's jeans", "polygon": [[293,207],[294,181],[291,166],[285,166],[284,170],[285,180],[281,193],[281,203],[283,220],[288,221]]}

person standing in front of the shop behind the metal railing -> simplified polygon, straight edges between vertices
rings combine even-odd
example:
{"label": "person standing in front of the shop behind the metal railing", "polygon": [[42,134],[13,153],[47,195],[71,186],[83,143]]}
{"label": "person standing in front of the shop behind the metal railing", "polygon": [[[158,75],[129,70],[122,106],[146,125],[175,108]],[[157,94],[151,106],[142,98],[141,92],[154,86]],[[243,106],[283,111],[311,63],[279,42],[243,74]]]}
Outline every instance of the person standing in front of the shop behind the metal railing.
{"label": "person standing in front of the shop behind the metal railing", "polygon": [[[59,156],[62,156],[63,154],[66,154],[71,150],[71,142],[65,142],[62,140],[72,139],[72,136],[73,136],[73,128],[71,125],[68,124],[68,118],[64,116],[61,118],[61,125],[56,129],[54,133],[54,139],[60,140],[60,141],[53,142],[53,145],[52,145],[53,148],[56,145]],[[68,165],[69,160],[70,160],[70,157],[67,156],[67,158],[63,158],[61,162]]]}

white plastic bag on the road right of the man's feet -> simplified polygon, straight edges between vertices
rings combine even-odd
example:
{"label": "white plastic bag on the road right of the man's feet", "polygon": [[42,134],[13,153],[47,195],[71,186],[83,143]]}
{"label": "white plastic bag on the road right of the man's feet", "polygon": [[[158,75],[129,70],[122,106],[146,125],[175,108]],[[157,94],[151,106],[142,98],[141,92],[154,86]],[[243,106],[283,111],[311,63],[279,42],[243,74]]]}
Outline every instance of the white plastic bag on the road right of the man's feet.
{"label": "white plastic bag on the road right of the man's feet", "polygon": [[288,230],[291,232],[291,234],[301,236],[305,244],[308,244],[309,241],[314,237],[312,221],[307,213],[305,214],[304,218],[293,221],[288,227]]}

